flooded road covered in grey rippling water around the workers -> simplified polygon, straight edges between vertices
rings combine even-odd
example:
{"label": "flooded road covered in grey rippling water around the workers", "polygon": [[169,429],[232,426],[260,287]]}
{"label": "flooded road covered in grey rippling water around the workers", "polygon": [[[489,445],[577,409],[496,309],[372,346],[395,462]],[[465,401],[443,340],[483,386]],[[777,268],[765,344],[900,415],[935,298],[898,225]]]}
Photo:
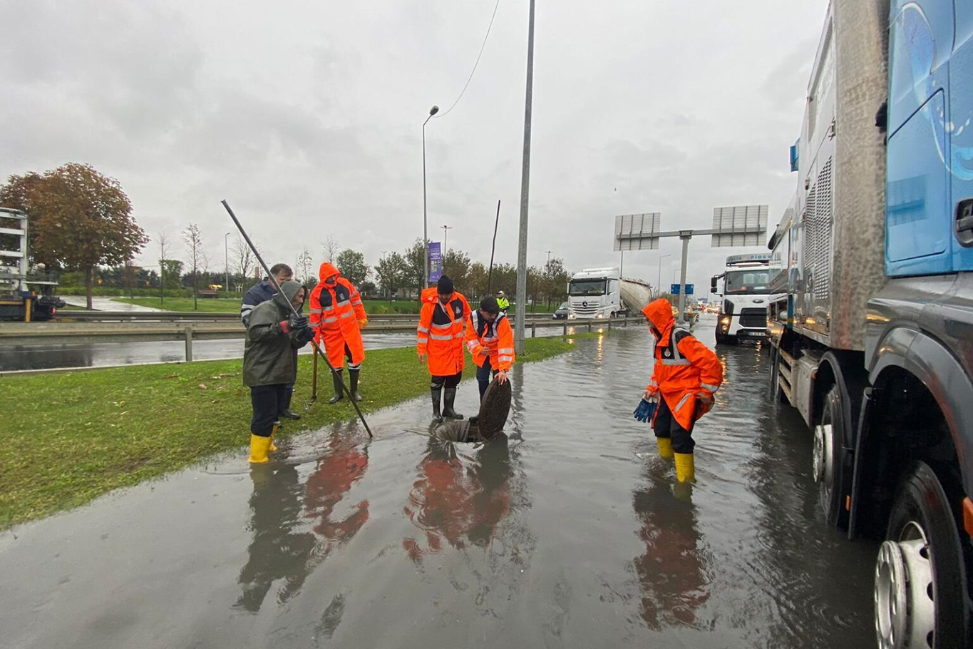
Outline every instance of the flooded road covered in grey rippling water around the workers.
{"label": "flooded road covered in grey rippling water around the workers", "polygon": [[[371,415],[371,442],[322,429],[252,472],[241,448],[0,535],[0,644],[874,646],[877,544],[824,524],[766,353],[718,350],[680,488],[631,417],[648,333],[578,347],[516,366],[507,436],[482,447],[410,432],[415,399]],[[457,410],[476,394],[462,383]]]}

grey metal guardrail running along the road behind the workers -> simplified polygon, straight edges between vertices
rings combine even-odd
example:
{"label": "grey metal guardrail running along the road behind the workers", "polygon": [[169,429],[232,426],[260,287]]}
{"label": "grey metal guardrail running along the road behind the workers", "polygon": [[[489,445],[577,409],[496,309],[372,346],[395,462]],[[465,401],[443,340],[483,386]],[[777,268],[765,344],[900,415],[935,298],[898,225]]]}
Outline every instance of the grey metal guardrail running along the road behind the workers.
{"label": "grey metal guardrail running along the road behind the workers", "polygon": [[[365,334],[414,334],[418,321],[386,324],[369,323]],[[611,330],[628,327],[628,318],[591,320],[534,319],[526,322],[530,337],[537,336],[537,329],[560,327],[563,335],[587,329],[591,332],[601,327]],[[0,344],[69,344],[69,343],[155,343],[160,341],[184,341],[186,360],[193,360],[193,341],[241,339],[246,329],[237,318],[234,322],[32,322],[0,324]]]}

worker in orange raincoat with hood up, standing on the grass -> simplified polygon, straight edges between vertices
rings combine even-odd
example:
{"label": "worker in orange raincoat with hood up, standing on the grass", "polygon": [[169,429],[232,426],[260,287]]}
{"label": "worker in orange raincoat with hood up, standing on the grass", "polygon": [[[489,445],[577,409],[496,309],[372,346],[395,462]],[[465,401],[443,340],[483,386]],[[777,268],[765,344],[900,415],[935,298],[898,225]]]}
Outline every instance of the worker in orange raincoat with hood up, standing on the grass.
{"label": "worker in orange raincoat with hood up, standing on the grass", "polygon": [[324,344],[328,362],[335,368],[335,396],[329,404],[342,400],[342,370],[348,359],[348,379],[351,398],[361,401],[358,393],[358,373],[365,360],[361,329],[368,324],[365,306],[358,289],[332,264],[325,262],[318,271],[320,281],[310,292],[310,326],[317,331],[317,340]]}

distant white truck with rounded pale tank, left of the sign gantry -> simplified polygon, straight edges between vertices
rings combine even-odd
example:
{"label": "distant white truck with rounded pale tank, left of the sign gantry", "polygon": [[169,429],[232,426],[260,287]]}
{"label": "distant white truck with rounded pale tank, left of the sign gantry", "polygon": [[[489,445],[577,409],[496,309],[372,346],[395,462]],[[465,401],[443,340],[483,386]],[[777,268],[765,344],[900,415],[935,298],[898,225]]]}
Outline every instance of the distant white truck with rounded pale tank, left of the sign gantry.
{"label": "distant white truck with rounded pale tank, left of the sign gantry", "polygon": [[638,312],[648,304],[652,287],[623,278],[618,269],[575,272],[567,285],[568,319],[613,318]]}

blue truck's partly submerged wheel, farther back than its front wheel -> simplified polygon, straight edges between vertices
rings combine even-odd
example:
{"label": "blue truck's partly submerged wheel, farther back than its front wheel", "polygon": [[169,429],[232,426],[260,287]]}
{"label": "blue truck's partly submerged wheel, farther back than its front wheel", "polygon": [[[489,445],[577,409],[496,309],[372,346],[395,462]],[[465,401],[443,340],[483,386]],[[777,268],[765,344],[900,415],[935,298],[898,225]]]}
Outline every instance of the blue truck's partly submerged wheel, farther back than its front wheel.
{"label": "blue truck's partly submerged wheel, farther back than its front wheel", "polygon": [[845,498],[850,490],[850,471],[845,467],[844,404],[841,390],[832,385],[824,397],[821,421],[814,426],[813,476],[818,502],[828,523],[847,527]]}

